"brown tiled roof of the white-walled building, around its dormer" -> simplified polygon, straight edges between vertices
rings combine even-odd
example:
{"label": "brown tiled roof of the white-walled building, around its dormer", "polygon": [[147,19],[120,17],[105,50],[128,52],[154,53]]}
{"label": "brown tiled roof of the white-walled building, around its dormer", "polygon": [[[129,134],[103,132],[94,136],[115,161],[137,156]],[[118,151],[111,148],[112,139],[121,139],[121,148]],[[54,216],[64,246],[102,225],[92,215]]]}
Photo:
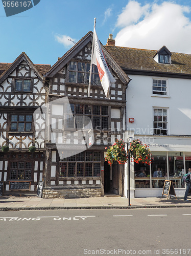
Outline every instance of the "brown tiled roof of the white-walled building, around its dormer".
{"label": "brown tiled roof of the white-walled building, around its dormer", "polygon": [[191,74],[190,54],[172,52],[172,64],[162,64],[153,59],[158,50],[118,46],[105,46],[105,48],[123,69]]}

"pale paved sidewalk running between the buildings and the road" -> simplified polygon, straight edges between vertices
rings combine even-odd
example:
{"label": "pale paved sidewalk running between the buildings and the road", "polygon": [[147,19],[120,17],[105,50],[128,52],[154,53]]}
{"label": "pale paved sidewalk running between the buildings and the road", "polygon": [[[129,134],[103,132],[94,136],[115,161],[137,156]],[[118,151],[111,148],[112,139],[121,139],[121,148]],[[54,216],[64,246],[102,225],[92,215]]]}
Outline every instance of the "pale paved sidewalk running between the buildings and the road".
{"label": "pale paved sidewalk running between the buildings and the road", "polygon": [[54,209],[134,209],[134,208],[168,208],[191,207],[191,198],[147,197],[130,199],[120,196],[104,196],[74,199],[42,199],[36,196],[0,197],[0,210],[54,210]]}

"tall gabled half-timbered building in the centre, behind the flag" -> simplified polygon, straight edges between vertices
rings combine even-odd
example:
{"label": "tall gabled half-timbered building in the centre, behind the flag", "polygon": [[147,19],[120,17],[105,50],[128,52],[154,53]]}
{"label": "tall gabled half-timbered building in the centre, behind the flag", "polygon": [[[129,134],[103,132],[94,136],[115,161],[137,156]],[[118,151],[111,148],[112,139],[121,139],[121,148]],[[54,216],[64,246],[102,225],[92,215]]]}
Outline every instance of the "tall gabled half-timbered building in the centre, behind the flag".
{"label": "tall gabled half-timbered building in the centre, behind the flag", "polygon": [[[104,193],[123,195],[124,168],[117,164],[112,172],[105,162],[105,147],[114,143],[115,139],[123,139],[125,131],[126,87],[128,76],[102,46],[108,67],[116,79],[110,89],[110,99],[105,97],[100,83],[97,66],[92,67],[90,97],[88,95],[89,70],[92,48],[92,32],[88,32],[57,63],[44,75],[44,84],[49,87],[49,102],[63,97],[68,98],[69,113],[63,113],[62,105],[58,104],[56,113],[52,113],[50,121],[51,134],[46,141],[46,182],[44,197],[88,197],[103,196]],[[62,115],[65,115],[63,118]],[[79,121],[81,116],[81,121]],[[84,118],[91,120],[94,138],[89,136],[91,147],[69,157],[58,154],[59,144],[65,143],[68,151],[82,145],[82,136],[76,131],[76,123],[84,126]],[[59,121],[60,120],[60,121]],[[60,133],[60,135],[59,135]],[[85,132],[86,135],[88,132]],[[55,135],[55,136],[54,136]],[[62,139],[59,142],[53,138]],[[87,136],[85,136],[88,138]],[[55,140],[55,139],[54,139]],[[87,142],[87,141],[86,141]],[[69,148],[69,146],[71,148]]]}

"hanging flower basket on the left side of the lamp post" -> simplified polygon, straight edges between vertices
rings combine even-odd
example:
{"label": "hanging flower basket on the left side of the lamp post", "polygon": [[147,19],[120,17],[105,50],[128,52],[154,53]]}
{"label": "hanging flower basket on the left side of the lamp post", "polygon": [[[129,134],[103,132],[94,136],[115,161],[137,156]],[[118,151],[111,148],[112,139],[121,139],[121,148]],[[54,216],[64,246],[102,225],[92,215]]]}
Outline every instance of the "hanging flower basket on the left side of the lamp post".
{"label": "hanging flower basket on the left side of the lamp post", "polygon": [[[107,147],[105,147],[106,149]],[[125,150],[125,142],[123,140],[116,140],[112,146],[107,150],[105,161],[111,165],[114,161],[120,164],[125,164],[128,160],[127,151]]]}

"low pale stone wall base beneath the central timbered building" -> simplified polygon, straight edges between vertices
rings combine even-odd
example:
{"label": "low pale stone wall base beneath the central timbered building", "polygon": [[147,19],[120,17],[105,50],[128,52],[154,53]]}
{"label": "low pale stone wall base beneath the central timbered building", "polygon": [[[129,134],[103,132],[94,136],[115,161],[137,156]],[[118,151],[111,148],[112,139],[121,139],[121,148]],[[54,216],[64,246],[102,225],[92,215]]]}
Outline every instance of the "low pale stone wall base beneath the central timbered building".
{"label": "low pale stone wall base beneath the central timbered building", "polygon": [[101,187],[44,187],[42,198],[101,197]]}

